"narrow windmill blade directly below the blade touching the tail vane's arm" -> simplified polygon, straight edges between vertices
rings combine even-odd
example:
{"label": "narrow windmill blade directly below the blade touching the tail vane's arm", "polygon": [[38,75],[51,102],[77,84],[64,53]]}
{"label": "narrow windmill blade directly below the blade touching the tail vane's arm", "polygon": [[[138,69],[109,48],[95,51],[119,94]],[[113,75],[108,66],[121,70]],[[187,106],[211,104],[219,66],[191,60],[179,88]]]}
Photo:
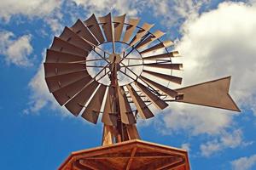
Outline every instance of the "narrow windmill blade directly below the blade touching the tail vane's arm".
{"label": "narrow windmill blade directly below the blade touching the tail vane's arm", "polygon": [[137,88],[139,88],[143,94],[145,94],[147,96],[147,98],[155,105],[157,106],[159,109],[163,110],[165,109],[168,104],[166,104],[166,102],[162,99],[160,99],[158,96],[156,96],[155,94],[153,94],[147,87],[145,87],[142,83],[140,82],[135,82],[135,85],[137,86]]}

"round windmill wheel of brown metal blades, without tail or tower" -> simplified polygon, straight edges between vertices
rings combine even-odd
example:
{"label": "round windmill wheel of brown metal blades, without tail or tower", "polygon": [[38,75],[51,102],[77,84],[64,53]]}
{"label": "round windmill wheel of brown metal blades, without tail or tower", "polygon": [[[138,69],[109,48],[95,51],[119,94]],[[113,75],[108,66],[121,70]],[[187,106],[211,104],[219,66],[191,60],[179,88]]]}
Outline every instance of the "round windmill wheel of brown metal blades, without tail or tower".
{"label": "round windmill wheel of brown metal blades, without tail or tower", "polygon": [[[44,62],[49,92],[74,116],[96,123],[100,114],[106,125],[118,120],[134,124],[148,119],[150,107],[164,109],[178,97],[169,88],[181,84],[172,74],[183,65],[172,63],[178,52],[172,41],[162,41],[164,32],[125,14],[77,20],[65,27],[47,49]],[[153,105],[151,105],[153,104]]]}

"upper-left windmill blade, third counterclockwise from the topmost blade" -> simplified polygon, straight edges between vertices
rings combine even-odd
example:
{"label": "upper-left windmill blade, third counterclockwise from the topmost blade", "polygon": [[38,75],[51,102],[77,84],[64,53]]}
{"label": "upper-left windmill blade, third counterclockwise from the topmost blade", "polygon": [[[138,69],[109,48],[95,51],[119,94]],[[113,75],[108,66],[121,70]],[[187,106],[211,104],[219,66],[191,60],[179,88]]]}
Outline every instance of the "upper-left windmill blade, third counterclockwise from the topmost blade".
{"label": "upper-left windmill blade, third counterclockwise from the topmost blade", "polygon": [[92,46],[88,42],[85,42],[83,38],[79,37],[78,34],[73,32],[67,26],[65,26],[65,29],[61,33],[60,38],[64,41],[67,41],[67,42],[73,44],[74,46],[81,48],[81,49],[85,49],[87,51],[90,51],[92,49]]}

